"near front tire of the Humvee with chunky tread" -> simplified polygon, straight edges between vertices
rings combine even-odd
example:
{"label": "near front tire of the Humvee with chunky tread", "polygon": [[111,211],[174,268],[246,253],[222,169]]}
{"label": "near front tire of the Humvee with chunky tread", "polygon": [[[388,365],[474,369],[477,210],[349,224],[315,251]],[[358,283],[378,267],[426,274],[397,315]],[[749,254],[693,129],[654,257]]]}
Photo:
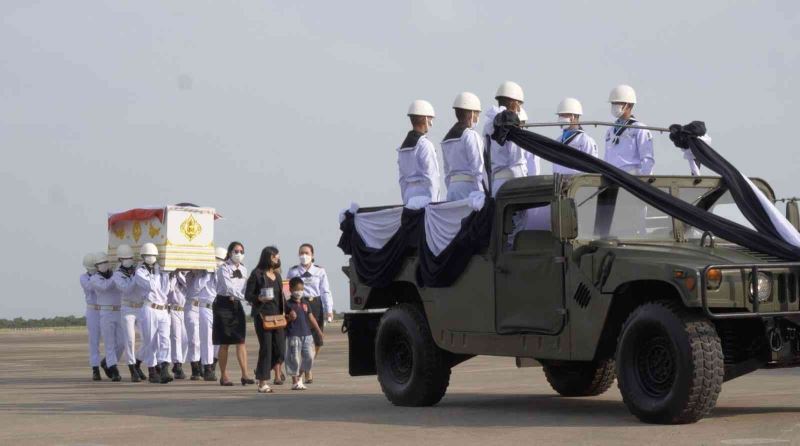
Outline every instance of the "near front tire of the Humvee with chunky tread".
{"label": "near front tire of the Humvee with chunky tread", "polygon": [[694,423],[714,408],[725,365],[714,325],[677,302],[636,308],[617,343],[622,400],[646,423]]}

